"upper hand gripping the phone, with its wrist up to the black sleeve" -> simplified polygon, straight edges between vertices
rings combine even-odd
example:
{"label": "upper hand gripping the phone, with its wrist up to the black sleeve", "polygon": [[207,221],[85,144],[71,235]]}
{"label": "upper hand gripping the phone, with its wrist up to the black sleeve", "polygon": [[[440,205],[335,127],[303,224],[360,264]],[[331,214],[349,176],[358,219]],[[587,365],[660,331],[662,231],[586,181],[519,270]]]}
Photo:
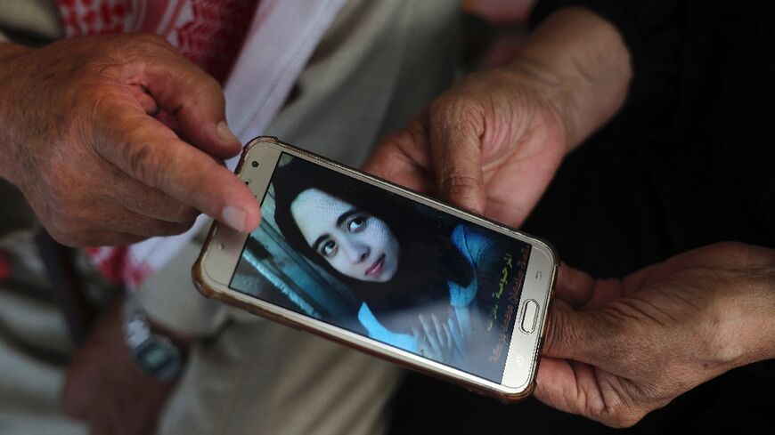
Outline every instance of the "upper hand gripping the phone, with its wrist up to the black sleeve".
{"label": "upper hand gripping the phone, with its wrist up to the black sleeve", "polygon": [[510,64],[471,74],[388,136],[363,170],[518,227],[567,153],[621,107],[631,77],[616,28],[567,8]]}

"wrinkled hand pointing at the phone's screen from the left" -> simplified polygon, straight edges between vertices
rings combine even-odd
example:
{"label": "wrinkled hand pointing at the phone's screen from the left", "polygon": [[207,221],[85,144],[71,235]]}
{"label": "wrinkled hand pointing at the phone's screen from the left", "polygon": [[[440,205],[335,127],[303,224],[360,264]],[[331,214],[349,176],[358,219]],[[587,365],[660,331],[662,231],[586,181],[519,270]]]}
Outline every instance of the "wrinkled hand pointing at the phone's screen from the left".
{"label": "wrinkled hand pointing at the phone's screen from the left", "polygon": [[[200,212],[257,226],[255,197],[217,160],[241,149],[221,87],[163,38],[0,44],[0,94],[0,175],[61,243],[177,234]],[[154,117],[160,110],[177,133]]]}

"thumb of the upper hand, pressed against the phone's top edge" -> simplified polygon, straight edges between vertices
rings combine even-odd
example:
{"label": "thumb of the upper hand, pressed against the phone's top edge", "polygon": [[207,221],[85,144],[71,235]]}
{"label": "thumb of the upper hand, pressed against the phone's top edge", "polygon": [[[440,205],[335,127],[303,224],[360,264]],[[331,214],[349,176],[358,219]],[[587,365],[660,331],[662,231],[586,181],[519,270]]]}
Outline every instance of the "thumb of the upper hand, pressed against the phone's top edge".
{"label": "thumb of the upper hand, pressed against the phone's top edge", "polygon": [[483,125],[476,109],[441,102],[431,107],[430,152],[438,193],[474,213],[485,212],[487,198],[479,140]]}

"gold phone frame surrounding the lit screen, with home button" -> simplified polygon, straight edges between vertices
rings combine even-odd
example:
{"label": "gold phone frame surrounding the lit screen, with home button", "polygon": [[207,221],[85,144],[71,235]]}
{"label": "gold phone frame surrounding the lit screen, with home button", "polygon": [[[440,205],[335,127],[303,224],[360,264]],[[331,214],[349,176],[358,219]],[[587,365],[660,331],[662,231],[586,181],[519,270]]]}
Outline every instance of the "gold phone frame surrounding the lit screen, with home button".
{"label": "gold phone frame surrounding the lit screen, with home button", "polygon": [[[541,240],[526,236],[518,230],[504,227],[476,214],[462,211],[436,199],[404,189],[389,181],[358,172],[355,169],[332,162],[303,149],[298,149],[272,137],[258,137],[250,141],[242,153],[241,162],[236,170],[238,176],[249,184],[249,188],[256,195],[259,202],[263,200],[265,191],[269,187],[274,167],[277,165],[282,152],[324,165],[333,171],[371,183],[379,188],[387,189],[390,192],[408,197],[411,200],[434,207],[445,213],[453,214],[453,216],[467,222],[495,230],[512,238],[517,238],[533,246],[527,264],[525,283],[515,314],[515,326],[510,337],[509,353],[506,358],[501,383],[494,383],[477,375],[472,375],[460,369],[445,366],[431,359],[415,355],[412,352],[378,342],[368,336],[355,334],[339,326],[333,326],[322,320],[309,318],[293,310],[288,310],[232,290],[229,288],[229,283],[249,234],[239,233],[228,227],[220,226],[217,222],[210,229],[208,238],[204,246],[202,246],[200,259],[194,265],[193,270],[194,280],[203,294],[241,306],[259,315],[278,320],[281,323],[304,328],[335,341],[345,342],[360,350],[378,355],[381,358],[393,360],[406,367],[460,383],[472,391],[490,394],[505,400],[520,399],[532,392],[537,363],[540,357],[542,337],[548,319],[551,293],[557,275],[557,268],[559,267],[557,256],[551,246],[548,246]],[[249,163],[253,161],[259,162],[259,165],[256,167],[250,165]],[[531,279],[531,277],[533,278]],[[525,333],[521,328],[521,321],[528,300],[538,303],[535,327],[529,334]]]}

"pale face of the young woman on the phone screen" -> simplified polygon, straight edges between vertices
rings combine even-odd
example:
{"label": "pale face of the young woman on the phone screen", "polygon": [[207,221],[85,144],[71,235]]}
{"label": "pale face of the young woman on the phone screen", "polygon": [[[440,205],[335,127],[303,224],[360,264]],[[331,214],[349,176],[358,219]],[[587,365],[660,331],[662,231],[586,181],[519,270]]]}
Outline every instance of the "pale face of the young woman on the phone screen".
{"label": "pale face of the young woman on the phone screen", "polygon": [[290,203],[306,243],[343,275],[386,282],[396,275],[399,246],[387,224],[318,189]]}

